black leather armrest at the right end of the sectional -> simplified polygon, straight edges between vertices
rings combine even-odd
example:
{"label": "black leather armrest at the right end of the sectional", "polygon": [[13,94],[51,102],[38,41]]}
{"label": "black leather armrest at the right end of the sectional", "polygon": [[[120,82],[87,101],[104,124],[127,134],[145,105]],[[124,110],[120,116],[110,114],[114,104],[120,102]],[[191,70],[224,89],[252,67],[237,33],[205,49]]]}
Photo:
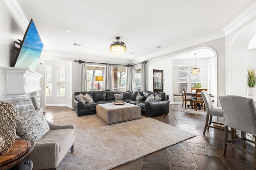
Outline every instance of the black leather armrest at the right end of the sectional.
{"label": "black leather armrest at the right end of the sectional", "polygon": [[169,100],[153,101],[145,103],[145,114],[148,117],[169,113]]}

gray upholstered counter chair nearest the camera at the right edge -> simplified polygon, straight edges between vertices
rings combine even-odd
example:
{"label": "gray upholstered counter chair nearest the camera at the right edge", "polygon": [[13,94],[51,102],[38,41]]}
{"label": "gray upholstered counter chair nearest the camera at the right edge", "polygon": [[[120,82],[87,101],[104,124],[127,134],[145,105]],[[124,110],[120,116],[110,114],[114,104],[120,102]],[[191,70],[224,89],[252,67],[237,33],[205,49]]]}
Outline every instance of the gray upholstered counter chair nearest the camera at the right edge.
{"label": "gray upholstered counter chair nearest the camera at the right edge", "polygon": [[[253,169],[256,170],[256,147],[254,146],[254,152],[250,152],[243,149],[244,141],[254,141],[245,138],[245,133],[250,133],[256,136],[256,107],[253,99],[242,96],[219,96],[220,104],[222,106],[224,115],[224,143],[222,148],[222,155],[226,153],[227,144],[231,145],[235,149],[243,150],[248,154],[254,156]],[[228,127],[240,130],[241,138],[228,140]],[[233,143],[241,140],[242,147],[238,147]]]}

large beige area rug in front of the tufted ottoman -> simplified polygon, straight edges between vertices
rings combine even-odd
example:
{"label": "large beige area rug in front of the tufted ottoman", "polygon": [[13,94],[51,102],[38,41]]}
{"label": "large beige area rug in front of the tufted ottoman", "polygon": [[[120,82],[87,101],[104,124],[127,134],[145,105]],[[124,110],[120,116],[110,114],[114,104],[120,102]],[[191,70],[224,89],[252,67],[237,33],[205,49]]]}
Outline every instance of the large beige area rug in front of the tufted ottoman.
{"label": "large beige area rug in front of the tufted ottoman", "polygon": [[74,152],[58,170],[108,170],[195,136],[144,116],[107,125],[97,115],[78,117],[70,111],[55,113],[53,122],[76,125]]}

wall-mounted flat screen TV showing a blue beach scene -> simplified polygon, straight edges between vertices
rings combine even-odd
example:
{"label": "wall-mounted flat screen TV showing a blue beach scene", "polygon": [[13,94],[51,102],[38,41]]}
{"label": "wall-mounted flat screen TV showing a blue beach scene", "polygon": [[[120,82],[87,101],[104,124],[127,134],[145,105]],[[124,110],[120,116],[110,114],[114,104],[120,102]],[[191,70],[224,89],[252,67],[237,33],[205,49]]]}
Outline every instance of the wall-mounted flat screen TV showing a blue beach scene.
{"label": "wall-mounted flat screen TV showing a blue beach scene", "polygon": [[36,70],[43,46],[34,21],[31,19],[20,44],[13,67]]}

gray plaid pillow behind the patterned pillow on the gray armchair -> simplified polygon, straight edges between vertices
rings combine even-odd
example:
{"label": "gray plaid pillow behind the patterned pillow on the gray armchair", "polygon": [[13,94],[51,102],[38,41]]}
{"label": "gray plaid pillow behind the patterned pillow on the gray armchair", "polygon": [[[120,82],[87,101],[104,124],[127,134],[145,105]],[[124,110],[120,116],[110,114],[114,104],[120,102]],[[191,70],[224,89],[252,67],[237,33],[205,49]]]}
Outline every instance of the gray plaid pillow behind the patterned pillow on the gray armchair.
{"label": "gray plaid pillow behind the patterned pillow on the gray armchair", "polygon": [[34,111],[35,107],[30,100],[30,98],[26,96],[17,96],[13,98],[7,98],[1,100],[2,103],[11,103],[16,108],[16,115],[22,115],[23,113],[27,113],[29,111]]}

